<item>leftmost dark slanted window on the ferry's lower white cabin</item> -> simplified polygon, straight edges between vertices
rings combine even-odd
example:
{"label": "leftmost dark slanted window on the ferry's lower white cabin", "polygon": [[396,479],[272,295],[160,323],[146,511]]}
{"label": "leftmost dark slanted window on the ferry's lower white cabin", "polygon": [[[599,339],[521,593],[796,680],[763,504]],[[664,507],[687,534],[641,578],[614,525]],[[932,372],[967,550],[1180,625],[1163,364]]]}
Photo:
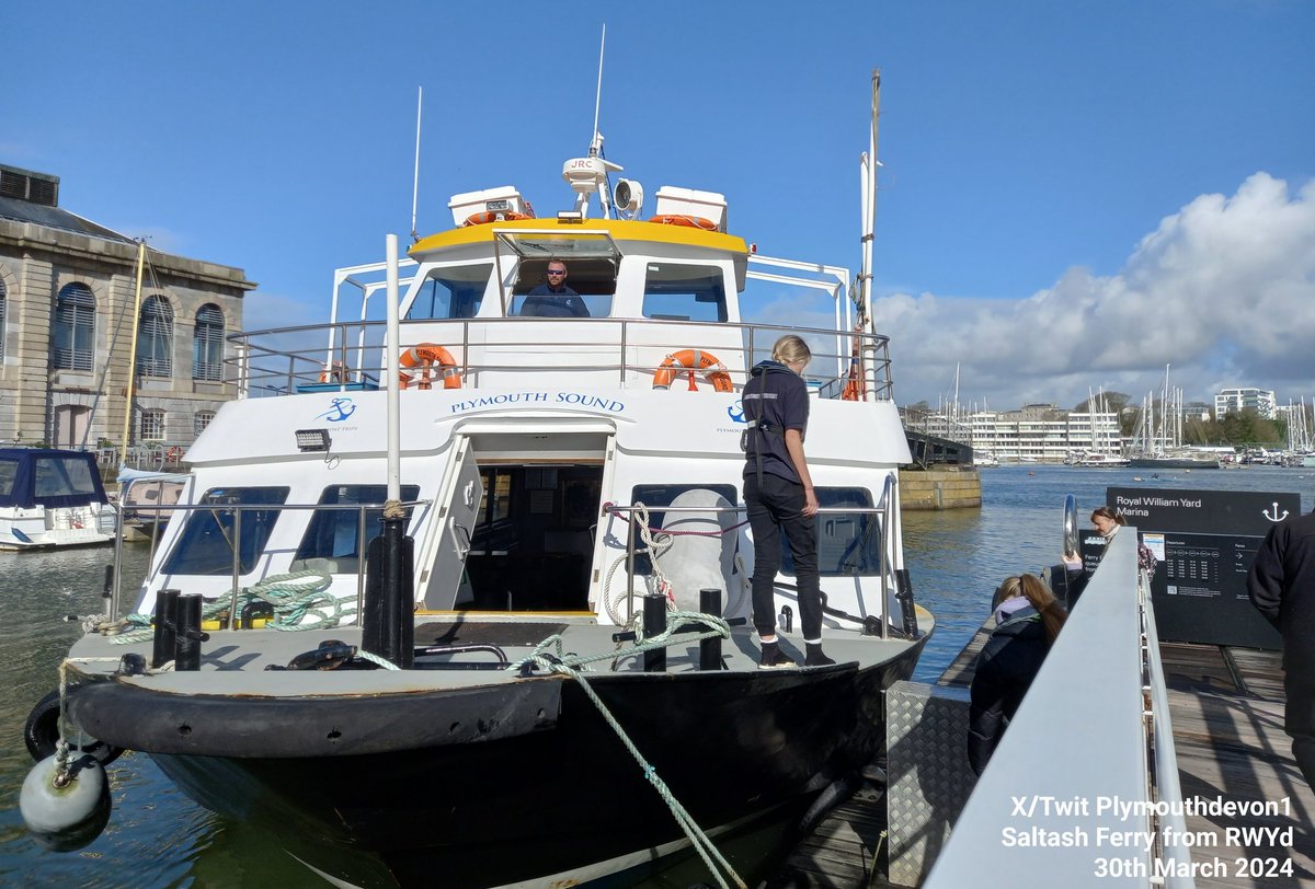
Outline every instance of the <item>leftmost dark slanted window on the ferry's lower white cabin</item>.
{"label": "leftmost dark slanted window on the ferry's lower white cabin", "polygon": [[[287,499],[287,487],[210,488],[201,496],[201,504],[209,508],[188,513],[183,534],[164,562],[164,573],[231,574],[233,553],[237,552],[238,570],[247,574],[255,567],[279,520],[279,510],[267,507],[277,507]],[[241,528],[237,519],[239,511]]]}

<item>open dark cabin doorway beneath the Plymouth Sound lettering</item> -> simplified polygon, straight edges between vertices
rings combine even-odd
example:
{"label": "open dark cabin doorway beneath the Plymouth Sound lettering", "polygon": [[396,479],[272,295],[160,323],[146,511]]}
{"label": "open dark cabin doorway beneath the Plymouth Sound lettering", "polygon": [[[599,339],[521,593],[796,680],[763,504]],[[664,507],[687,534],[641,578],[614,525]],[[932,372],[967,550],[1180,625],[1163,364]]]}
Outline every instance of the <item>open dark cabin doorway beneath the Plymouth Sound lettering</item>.
{"label": "open dark cabin doorway beneath the Plymouth Sound lettering", "polygon": [[[556,437],[568,436],[539,439],[547,443]],[[466,559],[467,588],[460,596],[466,601],[460,607],[592,611],[589,586],[610,436],[569,437],[596,443],[588,449],[572,448],[569,457],[544,458],[537,448],[538,454],[510,458],[502,446],[490,448],[475,436],[484,499]],[[588,453],[594,449],[597,456]]]}

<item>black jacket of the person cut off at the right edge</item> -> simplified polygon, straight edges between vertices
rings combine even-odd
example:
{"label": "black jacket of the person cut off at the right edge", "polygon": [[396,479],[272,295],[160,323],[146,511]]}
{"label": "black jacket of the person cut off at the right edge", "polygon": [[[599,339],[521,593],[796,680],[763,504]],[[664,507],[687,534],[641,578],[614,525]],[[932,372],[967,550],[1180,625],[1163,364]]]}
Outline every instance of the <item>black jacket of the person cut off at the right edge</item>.
{"label": "black jacket of the person cut off at the right edge", "polygon": [[1283,668],[1315,682],[1315,512],[1269,529],[1247,575],[1247,595],[1283,634]]}

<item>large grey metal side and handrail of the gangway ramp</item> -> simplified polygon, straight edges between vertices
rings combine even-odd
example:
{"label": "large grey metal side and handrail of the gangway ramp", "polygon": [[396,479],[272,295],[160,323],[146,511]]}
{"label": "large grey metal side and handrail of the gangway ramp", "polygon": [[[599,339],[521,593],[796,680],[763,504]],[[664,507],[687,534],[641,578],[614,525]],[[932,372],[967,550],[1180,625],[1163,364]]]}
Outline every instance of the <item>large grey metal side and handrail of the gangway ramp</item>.
{"label": "large grey metal side and handrail of the gangway ramp", "polygon": [[926,889],[1194,886],[1149,579],[1114,537],[955,822]]}

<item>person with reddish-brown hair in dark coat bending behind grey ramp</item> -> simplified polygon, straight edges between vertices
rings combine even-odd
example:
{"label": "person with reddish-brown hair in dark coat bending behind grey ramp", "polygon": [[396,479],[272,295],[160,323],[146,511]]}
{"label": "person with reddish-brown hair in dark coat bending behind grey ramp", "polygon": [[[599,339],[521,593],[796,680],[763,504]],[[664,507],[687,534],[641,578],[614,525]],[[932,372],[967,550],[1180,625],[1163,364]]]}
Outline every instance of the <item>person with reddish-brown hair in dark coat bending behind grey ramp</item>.
{"label": "person with reddish-brown hair in dark coat bending behind grey ramp", "polygon": [[992,603],[995,629],[977,655],[968,708],[968,764],[978,775],[1031,687],[1066,615],[1040,578],[1006,578]]}

